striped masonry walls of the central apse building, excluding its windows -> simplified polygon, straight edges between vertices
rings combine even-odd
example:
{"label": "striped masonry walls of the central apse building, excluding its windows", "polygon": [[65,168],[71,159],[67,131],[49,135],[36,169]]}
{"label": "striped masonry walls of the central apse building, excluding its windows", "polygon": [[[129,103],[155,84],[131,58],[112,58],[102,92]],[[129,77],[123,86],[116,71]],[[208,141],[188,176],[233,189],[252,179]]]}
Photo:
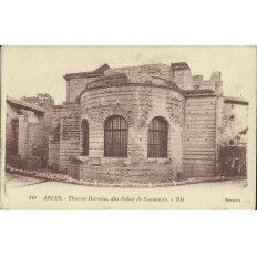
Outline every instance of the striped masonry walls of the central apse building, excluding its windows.
{"label": "striped masonry walls of the central apse building, excluding its windows", "polygon": [[[76,174],[79,179],[124,183],[217,174],[216,99],[223,94],[220,72],[203,80],[202,75],[192,76],[187,63],[172,63],[105,69],[102,73],[64,78],[68,102],[61,107],[61,136],[55,145],[51,144],[52,156],[60,148],[63,173]],[[183,90],[206,92],[187,94]],[[127,122],[127,157],[104,156],[104,123],[112,115]],[[148,124],[156,116],[163,117],[168,126],[166,158],[147,157]],[[83,119],[89,122],[89,156],[82,156]]]}

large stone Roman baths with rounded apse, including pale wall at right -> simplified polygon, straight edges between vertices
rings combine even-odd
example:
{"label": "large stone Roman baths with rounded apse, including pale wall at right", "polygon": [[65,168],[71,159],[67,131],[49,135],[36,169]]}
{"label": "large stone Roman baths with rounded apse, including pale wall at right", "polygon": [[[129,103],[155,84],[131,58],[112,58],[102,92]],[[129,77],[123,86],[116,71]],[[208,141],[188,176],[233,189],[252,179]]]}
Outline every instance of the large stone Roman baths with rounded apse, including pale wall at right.
{"label": "large stone Roman baths with rounded apse, including pale wall at right", "polygon": [[204,80],[185,62],[104,64],[64,79],[66,102],[52,106],[48,162],[76,179],[168,183],[217,176],[220,146],[248,124],[248,102],[223,96],[220,72]]}

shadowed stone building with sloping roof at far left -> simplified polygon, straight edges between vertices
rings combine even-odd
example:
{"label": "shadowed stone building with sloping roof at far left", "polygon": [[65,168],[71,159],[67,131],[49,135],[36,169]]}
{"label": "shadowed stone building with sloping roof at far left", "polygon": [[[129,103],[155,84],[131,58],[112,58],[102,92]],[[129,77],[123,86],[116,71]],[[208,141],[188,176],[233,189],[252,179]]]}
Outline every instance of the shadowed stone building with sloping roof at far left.
{"label": "shadowed stone building with sloping roof at far left", "polygon": [[[53,100],[7,97],[6,162],[13,167],[41,171],[48,167],[50,105]],[[32,101],[33,100],[33,101]]]}

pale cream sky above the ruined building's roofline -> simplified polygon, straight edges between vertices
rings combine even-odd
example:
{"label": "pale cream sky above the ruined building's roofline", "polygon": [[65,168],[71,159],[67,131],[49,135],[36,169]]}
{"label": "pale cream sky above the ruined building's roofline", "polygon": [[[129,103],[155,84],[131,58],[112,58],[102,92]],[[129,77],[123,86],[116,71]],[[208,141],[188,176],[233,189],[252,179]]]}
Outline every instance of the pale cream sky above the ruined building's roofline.
{"label": "pale cream sky above the ruined building's roofline", "polygon": [[2,88],[12,97],[49,93],[55,104],[66,99],[66,73],[111,68],[187,62],[192,75],[208,80],[222,72],[224,94],[256,94],[254,47],[3,47]]}

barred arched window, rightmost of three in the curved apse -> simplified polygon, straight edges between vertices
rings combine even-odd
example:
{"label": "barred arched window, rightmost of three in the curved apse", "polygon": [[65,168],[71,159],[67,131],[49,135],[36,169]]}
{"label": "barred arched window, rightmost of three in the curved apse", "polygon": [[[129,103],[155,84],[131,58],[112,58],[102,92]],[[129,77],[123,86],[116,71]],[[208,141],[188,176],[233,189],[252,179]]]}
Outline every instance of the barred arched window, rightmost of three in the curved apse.
{"label": "barred arched window, rightmost of three in the curved apse", "polygon": [[167,124],[162,117],[150,122],[148,157],[167,157]]}

